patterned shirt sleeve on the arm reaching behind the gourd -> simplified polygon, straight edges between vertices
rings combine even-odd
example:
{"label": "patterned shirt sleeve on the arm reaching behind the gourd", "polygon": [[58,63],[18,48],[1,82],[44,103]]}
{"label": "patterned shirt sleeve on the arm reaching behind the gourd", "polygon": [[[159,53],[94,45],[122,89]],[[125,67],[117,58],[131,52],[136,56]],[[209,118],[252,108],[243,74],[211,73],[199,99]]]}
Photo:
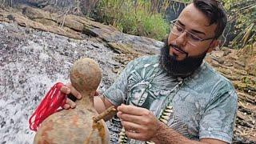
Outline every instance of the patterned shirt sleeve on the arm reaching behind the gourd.
{"label": "patterned shirt sleeve on the arm reaching behind the gourd", "polygon": [[120,106],[126,99],[126,90],[128,85],[128,76],[134,67],[134,61],[129,62],[126,68],[122,71],[119,78],[108,88],[103,95],[114,106]]}

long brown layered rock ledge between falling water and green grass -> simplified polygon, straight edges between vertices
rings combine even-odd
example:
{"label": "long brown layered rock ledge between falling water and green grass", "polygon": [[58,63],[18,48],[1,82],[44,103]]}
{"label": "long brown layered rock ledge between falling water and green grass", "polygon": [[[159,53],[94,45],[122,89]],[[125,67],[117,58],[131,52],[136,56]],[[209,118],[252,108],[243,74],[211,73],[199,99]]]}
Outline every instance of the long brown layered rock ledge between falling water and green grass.
{"label": "long brown layered rock ledge between falling water and green grass", "polygon": [[[139,54],[158,54],[159,47],[163,42],[158,42],[152,38],[138,37],[130,34],[122,34],[112,26],[105,26],[101,23],[91,21],[89,18],[79,17],[73,14],[50,14],[50,12],[35,9],[30,6],[21,6],[22,14],[16,12],[14,18],[20,26],[30,26],[34,29],[50,31],[61,34],[69,38],[83,39],[82,34],[101,38],[110,46],[119,45],[121,48],[130,47]],[[2,11],[0,21],[6,20],[8,14],[14,12]],[[27,20],[27,18],[30,20]],[[2,20],[1,20],[2,19]],[[62,26],[63,28],[59,27]],[[114,46],[116,47],[116,46]],[[120,47],[118,48],[120,49]]]}

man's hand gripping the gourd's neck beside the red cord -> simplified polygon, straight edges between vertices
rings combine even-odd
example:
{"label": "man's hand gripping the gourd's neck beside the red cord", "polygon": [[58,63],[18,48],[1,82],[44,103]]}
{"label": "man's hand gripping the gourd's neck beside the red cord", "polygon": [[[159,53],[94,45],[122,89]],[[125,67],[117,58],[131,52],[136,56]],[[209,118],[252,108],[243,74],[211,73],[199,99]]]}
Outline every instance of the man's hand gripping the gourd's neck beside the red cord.
{"label": "man's hand gripping the gourd's neck beside the red cord", "polygon": [[[66,86],[62,86],[61,92],[64,94],[73,94],[75,98],[81,99],[82,95],[75,90],[74,86],[71,83],[67,83]],[[98,95],[98,92],[95,93],[95,96]],[[66,104],[63,106],[64,109],[74,108],[76,106],[75,102],[70,100],[70,98],[66,98]]]}

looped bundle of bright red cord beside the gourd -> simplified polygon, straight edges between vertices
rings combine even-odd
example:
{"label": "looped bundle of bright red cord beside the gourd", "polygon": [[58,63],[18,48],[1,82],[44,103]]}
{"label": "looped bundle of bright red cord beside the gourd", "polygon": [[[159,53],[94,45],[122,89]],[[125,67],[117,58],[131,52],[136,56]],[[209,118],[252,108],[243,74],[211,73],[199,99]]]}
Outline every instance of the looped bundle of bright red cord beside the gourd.
{"label": "looped bundle of bright red cord beside the gourd", "polygon": [[66,103],[66,94],[60,91],[62,86],[64,86],[63,83],[56,83],[51,87],[45,98],[42,99],[37,110],[34,111],[34,114],[29,119],[30,130],[37,131],[42,121],[49,117],[50,114],[62,110]]}

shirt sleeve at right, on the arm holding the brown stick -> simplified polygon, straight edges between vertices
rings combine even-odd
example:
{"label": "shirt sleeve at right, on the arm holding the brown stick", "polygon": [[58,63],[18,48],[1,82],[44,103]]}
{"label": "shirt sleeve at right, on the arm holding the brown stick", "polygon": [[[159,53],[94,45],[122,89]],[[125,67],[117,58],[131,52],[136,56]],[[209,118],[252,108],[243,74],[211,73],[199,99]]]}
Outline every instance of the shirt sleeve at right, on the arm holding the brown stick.
{"label": "shirt sleeve at right, on the arm holding the brown stick", "polygon": [[238,97],[235,90],[218,94],[199,123],[199,138],[214,138],[231,143],[233,138],[234,122],[238,108]]}

